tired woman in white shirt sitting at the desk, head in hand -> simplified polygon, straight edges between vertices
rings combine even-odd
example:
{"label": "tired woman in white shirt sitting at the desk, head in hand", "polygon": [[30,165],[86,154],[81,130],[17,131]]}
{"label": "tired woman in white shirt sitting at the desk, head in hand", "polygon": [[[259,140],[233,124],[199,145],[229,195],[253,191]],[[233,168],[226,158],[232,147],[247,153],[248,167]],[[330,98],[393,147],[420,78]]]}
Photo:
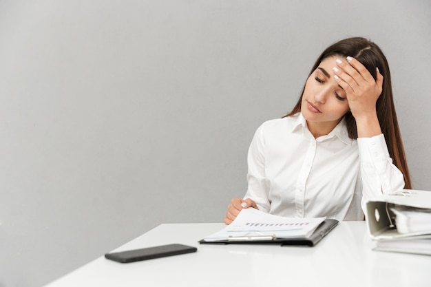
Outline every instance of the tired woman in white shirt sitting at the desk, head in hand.
{"label": "tired woman in white shirt sitting at the desk, head in hand", "polygon": [[257,129],[248,164],[246,195],[231,200],[226,224],[248,207],[364,220],[367,198],[411,189],[380,48],[360,37],[326,48],[291,113]]}

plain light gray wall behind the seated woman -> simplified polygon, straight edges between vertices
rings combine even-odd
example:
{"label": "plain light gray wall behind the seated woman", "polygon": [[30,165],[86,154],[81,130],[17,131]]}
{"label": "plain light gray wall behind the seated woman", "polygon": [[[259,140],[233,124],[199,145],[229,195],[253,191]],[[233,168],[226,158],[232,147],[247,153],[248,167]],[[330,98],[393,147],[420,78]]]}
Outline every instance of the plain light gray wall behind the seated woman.
{"label": "plain light gray wall behind the seated woman", "polygon": [[42,286],[158,224],[222,222],[257,126],[348,36],[386,52],[430,190],[430,19],[428,0],[0,0],[0,286]]}

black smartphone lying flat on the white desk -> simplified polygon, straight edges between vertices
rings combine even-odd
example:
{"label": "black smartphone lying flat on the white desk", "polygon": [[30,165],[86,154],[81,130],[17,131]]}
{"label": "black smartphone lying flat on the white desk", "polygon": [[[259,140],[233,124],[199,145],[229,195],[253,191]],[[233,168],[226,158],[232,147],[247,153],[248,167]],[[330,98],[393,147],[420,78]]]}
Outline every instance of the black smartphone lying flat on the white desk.
{"label": "black smartphone lying flat on the white desk", "polygon": [[147,259],[167,257],[185,253],[198,251],[198,248],[183,244],[167,244],[154,247],[135,249],[130,251],[122,251],[116,253],[107,253],[105,258],[114,260],[120,263],[136,262]]}

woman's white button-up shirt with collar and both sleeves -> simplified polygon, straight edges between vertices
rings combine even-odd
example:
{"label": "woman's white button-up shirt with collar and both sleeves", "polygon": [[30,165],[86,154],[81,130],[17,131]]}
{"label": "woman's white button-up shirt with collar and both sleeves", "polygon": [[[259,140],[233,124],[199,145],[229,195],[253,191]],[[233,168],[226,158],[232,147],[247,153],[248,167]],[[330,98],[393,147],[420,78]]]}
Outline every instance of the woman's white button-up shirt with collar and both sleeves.
{"label": "woman's white button-up shirt with collar and both sleeves", "polygon": [[328,135],[314,138],[300,113],[263,123],[248,164],[244,198],[285,217],[364,220],[366,198],[404,187],[383,134],[354,140],[341,120]]}

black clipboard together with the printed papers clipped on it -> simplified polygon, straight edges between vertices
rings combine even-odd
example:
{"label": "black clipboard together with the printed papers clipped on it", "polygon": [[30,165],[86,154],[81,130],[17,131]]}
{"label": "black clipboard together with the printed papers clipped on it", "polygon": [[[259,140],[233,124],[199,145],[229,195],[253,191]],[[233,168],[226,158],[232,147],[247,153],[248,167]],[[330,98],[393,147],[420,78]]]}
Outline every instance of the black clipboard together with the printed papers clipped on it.
{"label": "black clipboard together with the printed papers clipped on it", "polygon": [[249,208],[242,209],[230,225],[204,237],[200,243],[315,246],[337,224],[337,220],[326,217],[282,217]]}

